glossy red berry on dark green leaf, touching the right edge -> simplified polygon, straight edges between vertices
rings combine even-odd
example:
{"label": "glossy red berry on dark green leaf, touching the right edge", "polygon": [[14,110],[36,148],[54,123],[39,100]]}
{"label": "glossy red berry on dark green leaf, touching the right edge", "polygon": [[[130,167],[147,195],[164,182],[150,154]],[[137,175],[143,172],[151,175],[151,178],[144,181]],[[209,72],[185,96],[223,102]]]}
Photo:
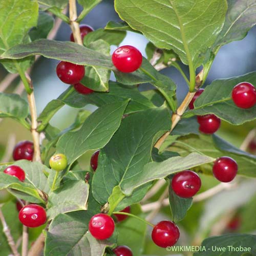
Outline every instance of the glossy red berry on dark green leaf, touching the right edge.
{"label": "glossy red berry on dark green leaf, touching the right edge", "polygon": [[241,82],[233,88],[232,100],[239,108],[249,109],[256,103],[256,88],[249,82]]}

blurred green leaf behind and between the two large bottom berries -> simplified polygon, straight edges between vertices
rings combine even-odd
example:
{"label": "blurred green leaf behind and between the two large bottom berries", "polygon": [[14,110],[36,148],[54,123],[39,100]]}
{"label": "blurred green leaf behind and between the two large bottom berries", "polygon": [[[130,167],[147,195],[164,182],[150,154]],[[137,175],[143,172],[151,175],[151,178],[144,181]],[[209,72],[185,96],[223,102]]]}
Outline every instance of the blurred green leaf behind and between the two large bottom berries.
{"label": "blurred green leaf behind and between the two large bottom berries", "polygon": [[[131,206],[131,214],[144,218],[139,205]],[[140,256],[145,245],[146,223],[128,217],[125,221],[116,224],[118,231],[118,245],[126,245],[131,248],[133,255]]]}

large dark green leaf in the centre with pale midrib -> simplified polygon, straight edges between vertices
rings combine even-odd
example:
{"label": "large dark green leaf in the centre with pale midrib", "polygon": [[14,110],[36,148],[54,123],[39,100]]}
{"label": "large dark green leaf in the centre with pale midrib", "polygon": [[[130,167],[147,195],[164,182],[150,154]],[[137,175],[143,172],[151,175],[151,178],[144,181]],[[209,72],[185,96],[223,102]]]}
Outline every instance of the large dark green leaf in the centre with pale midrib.
{"label": "large dark green leaf in the centre with pale midrib", "polygon": [[108,201],[115,186],[131,196],[132,191],[126,193],[124,187],[129,181],[137,181],[143,166],[151,161],[156,134],[159,138],[169,127],[170,118],[165,108],[141,111],[123,119],[111,141],[100,151],[93,176],[93,196],[100,204]]}

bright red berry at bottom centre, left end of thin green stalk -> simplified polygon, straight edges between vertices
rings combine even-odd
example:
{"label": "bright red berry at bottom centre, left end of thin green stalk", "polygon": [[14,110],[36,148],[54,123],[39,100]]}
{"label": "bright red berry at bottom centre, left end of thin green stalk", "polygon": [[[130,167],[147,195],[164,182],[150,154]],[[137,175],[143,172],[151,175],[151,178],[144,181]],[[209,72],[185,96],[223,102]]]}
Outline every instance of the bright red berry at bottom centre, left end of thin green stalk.
{"label": "bright red berry at bottom centre, left end of thin green stalk", "polygon": [[96,214],[89,222],[89,231],[94,238],[99,240],[110,238],[114,230],[115,222],[106,214]]}

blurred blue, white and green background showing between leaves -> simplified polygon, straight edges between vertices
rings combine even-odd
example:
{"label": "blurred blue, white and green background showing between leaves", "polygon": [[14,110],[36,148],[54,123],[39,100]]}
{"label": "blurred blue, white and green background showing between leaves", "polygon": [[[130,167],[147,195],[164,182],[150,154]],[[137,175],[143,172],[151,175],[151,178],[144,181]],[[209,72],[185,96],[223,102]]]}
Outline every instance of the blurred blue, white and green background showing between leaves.
{"label": "blurred blue, white and green background showing between leaves", "polygon": [[[81,8],[78,6],[78,12]],[[83,20],[83,24],[88,24],[94,28],[104,28],[106,23],[110,20],[120,21],[119,16],[114,10],[113,1],[104,0],[96,8],[94,8],[87,17]],[[66,23],[62,23],[60,29],[56,35],[56,40],[69,41],[70,37],[70,27]],[[137,47],[142,54],[146,57],[145,46],[148,40],[140,34],[133,32],[127,32],[127,36],[122,41],[121,45],[133,45]],[[112,46],[112,52],[115,47]],[[214,64],[210,70],[209,76],[206,81],[206,85],[210,84],[215,79],[229,78],[233,76],[239,76],[252,72],[256,70],[256,27],[252,28],[247,36],[241,41],[234,41],[230,44],[224,46],[219,51]],[[46,59],[40,57],[40,59],[35,63],[32,71],[32,80],[35,89],[35,98],[37,104],[38,114],[45,108],[46,104],[52,99],[56,99],[63,91],[68,88],[68,85],[62,83],[55,73],[55,67],[57,60]],[[182,66],[188,75],[188,68]],[[164,75],[172,78],[177,84],[177,96],[178,101],[182,101],[186,95],[188,89],[183,77],[174,68],[166,68],[161,71]],[[2,80],[6,71],[1,66],[0,67],[0,80]],[[114,76],[111,76],[114,80]],[[6,90],[6,92],[12,92],[17,85],[17,79],[13,82],[11,87]],[[23,95],[26,98],[26,95]],[[86,109],[92,110],[93,106],[86,106]],[[69,126],[75,119],[77,109],[72,109],[69,106],[62,108],[51,120],[51,124],[63,129]],[[239,147],[246,137],[246,135],[256,127],[255,122],[248,122],[240,126],[232,126],[226,122],[222,122],[221,129],[217,134],[222,136],[224,139],[230,141],[233,145]],[[5,119],[0,123],[0,156],[2,157],[5,152],[6,146],[10,143],[15,143],[15,141],[31,139],[30,133],[26,131],[21,125],[10,120]],[[88,163],[90,156],[84,157],[84,163]],[[86,164],[85,164],[86,166]],[[256,168],[256,167],[255,167]],[[210,177],[202,176],[202,186],[201,191],[204,191],[216,184],[218,182]],[[218,228],[218,221],[222,220],[225,215],[234,215],[234,223],[230,224],[230,227],[224,228],[223,232],[233,230],[237,232],[252,232],[256,233],[256,203],[255,203],[255,193],[256,193],[256,183],[253,180],[245,180],[239,187],[233,188],[228,191],[223,191],[220,194],[212,197],[206,202],[199,202],[193,205],[189,210],[187,217],[179,225],[181,227],[183,244],[197,244],[201,240],[202,236],[214,233],[212,230],[212,224],[214,223],[216,228]],[[151,198],[152,201],[158,199],[161,192],[165,187],[162,187],[157,195]],[[154,222],[157,220],[168,218],[170,212],[168,207],[163,207],[160,215],[156,217]],[[219,218],[222,216],[222,218]],[[237,219],[236,219],[237,218]],[[250,220],[250,222],[248,221]],[[221,222],[219,223],[221,225]],[[211,231],[209,231],[211,230]],[[184,232],[183,232],[184,231]],[[191,241],[193,237],[193,241]],[[1,239],[1,237],[0,237]],[[174,255],[167,252],[165,249],[156,247],[150,239],[146,241],[146,246],[144,249],[144,254],[148,255]],[[135,255],[136,256],[136,255]]]}

